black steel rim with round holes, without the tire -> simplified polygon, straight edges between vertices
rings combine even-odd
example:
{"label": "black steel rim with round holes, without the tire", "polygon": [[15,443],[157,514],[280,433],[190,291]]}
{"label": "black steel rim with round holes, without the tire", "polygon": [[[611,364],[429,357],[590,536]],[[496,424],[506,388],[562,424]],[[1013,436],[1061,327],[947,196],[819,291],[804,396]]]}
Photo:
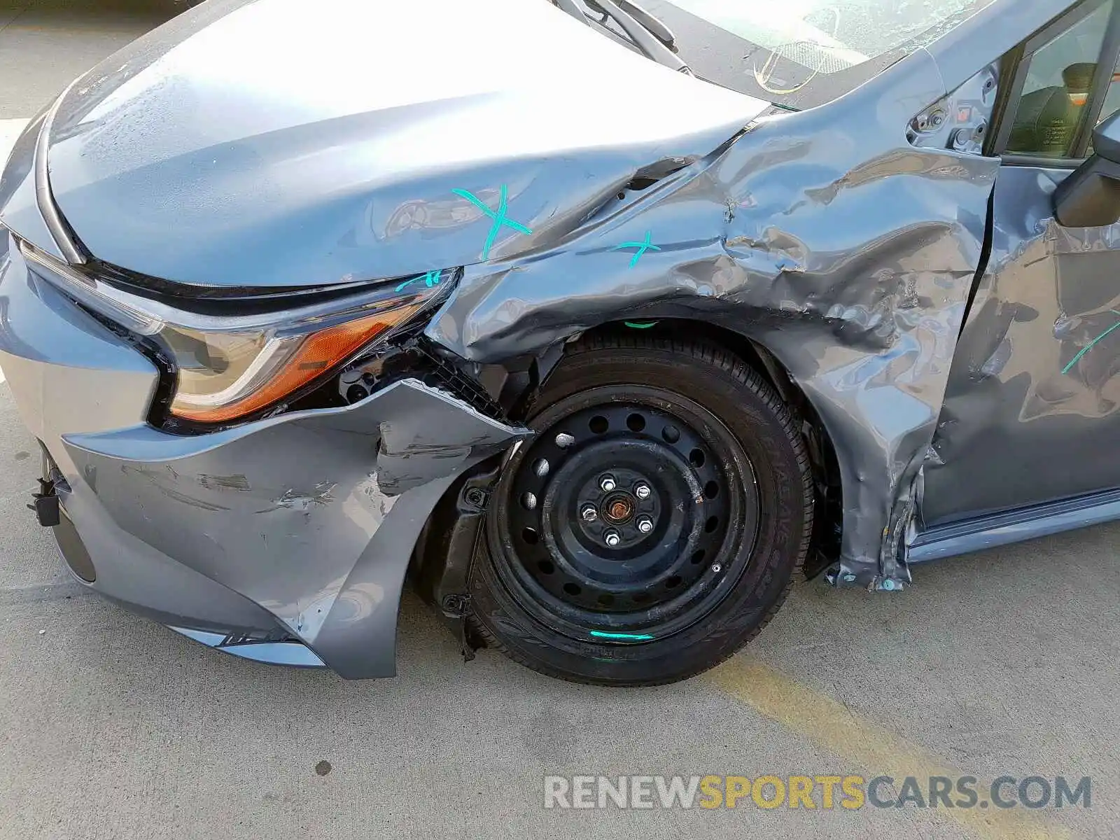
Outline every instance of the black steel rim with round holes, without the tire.
{"label": "black steel rim with round holes, without the tire", "polygon": [[618,644],[702,618],[741,562],[727,549],[753,541],[758,520],[749,460],[726,427],[633,385],[573,394],[534,427],[495,511],[526,609],[572,638]]}

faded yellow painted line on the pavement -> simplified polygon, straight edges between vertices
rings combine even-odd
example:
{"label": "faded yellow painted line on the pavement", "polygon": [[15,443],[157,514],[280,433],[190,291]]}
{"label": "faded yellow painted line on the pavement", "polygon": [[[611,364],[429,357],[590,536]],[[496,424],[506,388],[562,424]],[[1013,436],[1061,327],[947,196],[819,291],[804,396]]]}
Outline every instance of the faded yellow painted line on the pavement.
{"label": "faded yellow painted line on the pavement", "polygon": [[[915,776],[924,786],[924,780],[930,776],[971,775],[918,745],[856,717],[843,703],[748,655],[729,660],[702,679],[814,746],[866,767],[875,775],[893,776],[896,790],[906,776]],[[990,783],[991,780],[978,778],[977,792],[981,799]],[[1072,837],[1065,829],[1024,811],[1023,805],[1008,810],[997,809],[995,804],[987,809],[939,808],[936,812],[955,820],[981,840],[1064,840]]]}

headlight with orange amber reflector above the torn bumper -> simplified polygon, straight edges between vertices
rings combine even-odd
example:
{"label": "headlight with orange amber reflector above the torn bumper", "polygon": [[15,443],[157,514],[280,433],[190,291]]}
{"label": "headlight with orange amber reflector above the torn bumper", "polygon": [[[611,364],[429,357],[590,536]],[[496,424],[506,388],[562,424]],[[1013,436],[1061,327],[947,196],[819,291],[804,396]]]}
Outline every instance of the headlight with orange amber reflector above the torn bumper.
{"label": "headlight with orange amber reflector above the torn bumper", "polygon": [[80,302],[162,346],[177,370],[171,416],[203,423],[240,420],[311,385],[388,338],[455,277],[429,271],[282,312],[220,317],[123,291],[26,242],[20,253]]}

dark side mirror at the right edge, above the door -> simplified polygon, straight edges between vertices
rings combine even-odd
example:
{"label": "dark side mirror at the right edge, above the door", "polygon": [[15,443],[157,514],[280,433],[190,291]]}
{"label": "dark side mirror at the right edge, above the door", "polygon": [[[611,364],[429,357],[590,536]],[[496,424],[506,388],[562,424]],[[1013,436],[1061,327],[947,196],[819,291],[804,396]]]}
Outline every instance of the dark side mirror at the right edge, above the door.
{"label": "dark side mirror at the right edge, above the door", "polygon": [[1057,185],[1054,218],[1065,227],[1120,220],[1120,111],[1093,129],[1093,156]]}

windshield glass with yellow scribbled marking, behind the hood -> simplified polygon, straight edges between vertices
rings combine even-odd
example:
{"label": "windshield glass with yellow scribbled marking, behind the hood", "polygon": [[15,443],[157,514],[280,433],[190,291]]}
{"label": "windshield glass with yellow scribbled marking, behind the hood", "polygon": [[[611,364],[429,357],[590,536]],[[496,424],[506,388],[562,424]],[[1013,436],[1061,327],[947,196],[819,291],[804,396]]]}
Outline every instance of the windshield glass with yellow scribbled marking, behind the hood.
{"label": "windshield glass with yellow scribbled marking, behind the hood", "polygon": [[829,102],[993,0],[645,0],[704,78],[785,108]]}

